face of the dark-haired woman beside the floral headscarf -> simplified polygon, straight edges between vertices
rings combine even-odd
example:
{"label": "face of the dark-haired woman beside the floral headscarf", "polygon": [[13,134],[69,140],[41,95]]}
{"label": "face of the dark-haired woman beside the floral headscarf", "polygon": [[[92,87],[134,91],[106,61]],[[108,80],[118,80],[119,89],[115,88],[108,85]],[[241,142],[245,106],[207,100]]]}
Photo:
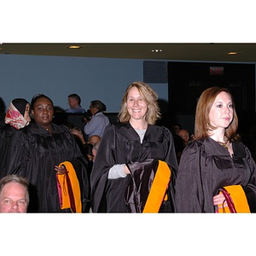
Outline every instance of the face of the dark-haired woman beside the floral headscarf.
{"label": "face of the dark-haired woman beside the floral headscarf", "polygon": [[49,99],[45,97],[38,98],[33,108],[32,114],[36,123],[44,127],[49,126],[54,115],[54,107]]}

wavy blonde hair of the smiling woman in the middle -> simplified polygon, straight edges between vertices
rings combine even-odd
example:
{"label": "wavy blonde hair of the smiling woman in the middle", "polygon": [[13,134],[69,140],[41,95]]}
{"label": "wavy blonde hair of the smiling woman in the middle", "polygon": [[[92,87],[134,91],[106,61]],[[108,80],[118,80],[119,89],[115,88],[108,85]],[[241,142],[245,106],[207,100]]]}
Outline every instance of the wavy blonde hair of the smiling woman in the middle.
{"label": "wavy blonde hair of the smiling woman in the middle", "polygon": [[146,121],[148,122],[148,125],[154,125],[157,119],[160,119],[160,108],[157,102],[158,96],[156,92],[149,87],[148,84],[143,82],[134,82],[126,88],[118,114],[119,122],[128,123],[130,120],[130,113],[126,108],[126,102],[128,93],[133,87],[137,88],[140,95],[143,97],[143,100],[148,104],[148,112],[146,113]]}

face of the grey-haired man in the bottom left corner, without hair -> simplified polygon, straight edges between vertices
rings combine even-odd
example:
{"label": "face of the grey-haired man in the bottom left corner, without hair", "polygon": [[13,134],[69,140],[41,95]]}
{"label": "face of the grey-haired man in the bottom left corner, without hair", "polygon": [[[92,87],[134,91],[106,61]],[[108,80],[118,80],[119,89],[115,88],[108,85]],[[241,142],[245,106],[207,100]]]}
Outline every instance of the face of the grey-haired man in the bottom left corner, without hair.
{"label": "face of the grey-haired man in the bottom left corner, without hair", "polygon": [[5,184],[0,195],[0,212],[26,212],[26,197],[26,189],[20,183]]}

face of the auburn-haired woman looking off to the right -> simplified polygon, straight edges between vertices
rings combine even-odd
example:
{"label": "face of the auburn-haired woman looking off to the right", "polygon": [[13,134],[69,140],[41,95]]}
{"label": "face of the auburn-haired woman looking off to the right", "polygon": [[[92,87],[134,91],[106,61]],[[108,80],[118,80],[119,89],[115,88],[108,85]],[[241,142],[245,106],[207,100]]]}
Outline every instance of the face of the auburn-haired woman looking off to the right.
{"label": "face of the auburn-haired woman looking off to the right", "polygon": [[209,113],[210,124],[217,129],[227,128],[234,116],[233,102],[228,93],[222,91],[216,96]]}

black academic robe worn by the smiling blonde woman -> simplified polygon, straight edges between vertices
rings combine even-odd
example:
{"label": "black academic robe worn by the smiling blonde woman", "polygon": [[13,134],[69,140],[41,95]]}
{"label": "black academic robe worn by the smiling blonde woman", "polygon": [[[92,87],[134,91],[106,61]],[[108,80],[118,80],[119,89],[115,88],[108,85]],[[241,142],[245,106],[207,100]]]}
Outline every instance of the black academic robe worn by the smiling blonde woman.
{"label": "black academic robe worn by the smiling blonde woman", "polygon": [[172,169],[172,182],[168,189],[169,205],[167,210],[163,210],[172,212],[177,159],[171,131],[163,126],[148,125],[141,143],[130,124],[120,123],[108,125],[96,154],[90,175],[92,211],[129,212],[125,205],[125,189],[131,176],[108,179],[108,171],[116,164],[131,164],[149,159],[166,161]]}

